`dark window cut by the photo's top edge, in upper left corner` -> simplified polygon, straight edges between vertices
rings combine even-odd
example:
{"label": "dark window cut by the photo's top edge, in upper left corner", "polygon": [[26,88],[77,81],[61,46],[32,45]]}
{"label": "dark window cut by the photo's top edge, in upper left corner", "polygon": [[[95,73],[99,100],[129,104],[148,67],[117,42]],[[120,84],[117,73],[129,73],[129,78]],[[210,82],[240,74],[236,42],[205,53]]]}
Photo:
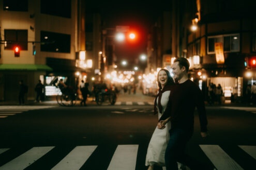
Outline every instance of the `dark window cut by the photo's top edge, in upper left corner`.
{"label": "dark window cut by the photo's top edge, in upper left corner", "polygon": [[4,10],[28,11],[27,0],[4,0]]}

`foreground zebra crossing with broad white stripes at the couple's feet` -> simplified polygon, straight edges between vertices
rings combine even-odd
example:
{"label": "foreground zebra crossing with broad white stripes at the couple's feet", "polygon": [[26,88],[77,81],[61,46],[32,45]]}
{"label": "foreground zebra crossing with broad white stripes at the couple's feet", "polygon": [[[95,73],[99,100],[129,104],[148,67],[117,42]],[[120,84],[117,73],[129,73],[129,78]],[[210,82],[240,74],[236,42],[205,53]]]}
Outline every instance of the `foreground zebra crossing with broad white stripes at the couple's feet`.
{"label": "foreground zebra crossing with broad white stripes at the couple's feet", "polygon": [[[207,159],[213,163],[213,165],[221,170],[229,169],[244,169],[242,165],[237,163],[229,156],[229,153],[225,152],[219,145],[199,145],[204,152]],[[241,151],[244,151],[252,159],[256,159],[256,146],[238,145]],[[49,151],[53,150],[54,146],[40,146],[28,149],[24,153],[21,153],[18,157],[10,160],[7,163],[0,161],[0,170],[9,169],[24,169],[36,164],[37,160],[45,156]],[[89,146],[76,146],[74,147],[64,158],[57,162],[51,169],[80,169],[90,157],[93,157],[93,153],[98,148],[97,145]],[[139,145],[117,145],[113,156],[108,164],[108,170],[119,169],[135,169],[137,165]],[[8,151],[11,148],[1,148],[0,157],[4,154],[8,155]],[[146,152],[146,150],[144,150]],[[47,155],[51,157],[51,154]],[[54,159],[51,158],[51,159]],[[143,159],[142,159],[143,160]],[[47,164],[47,162],[45,162]],[[144,162],[142,162],[144,164]],[[253,163],[252,163],[253,164]],[[252,168],[253,169],[253,168]]]}

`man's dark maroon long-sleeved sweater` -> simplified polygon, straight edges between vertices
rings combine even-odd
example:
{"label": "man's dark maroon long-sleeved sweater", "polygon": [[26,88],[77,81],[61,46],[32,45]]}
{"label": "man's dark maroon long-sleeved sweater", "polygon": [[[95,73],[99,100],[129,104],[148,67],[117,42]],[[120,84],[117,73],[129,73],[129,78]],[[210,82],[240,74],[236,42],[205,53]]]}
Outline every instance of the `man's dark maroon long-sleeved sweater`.
{"label": "man's dark maroon long-sleeved sweater", "polygon": [[201,131],[207,131],[207,118],[202,91],[191,80],[172,86],[168,106],[159,121],[171,116],[171,128],[193,131],[194,109],[197,107]]}

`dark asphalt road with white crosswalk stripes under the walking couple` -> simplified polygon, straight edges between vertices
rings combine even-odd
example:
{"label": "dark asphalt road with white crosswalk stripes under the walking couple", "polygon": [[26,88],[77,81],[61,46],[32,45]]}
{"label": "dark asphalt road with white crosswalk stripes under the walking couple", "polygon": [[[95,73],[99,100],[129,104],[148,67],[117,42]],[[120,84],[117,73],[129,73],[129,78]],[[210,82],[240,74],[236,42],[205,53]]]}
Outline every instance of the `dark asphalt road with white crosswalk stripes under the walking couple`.
{"label": "dark asphalt road with white crosswalk stripes under the walking couple", "polygon": [[[146,169],[146,150],[157,124],[152,105],[0,109],[0,169],[63,169],[56,166],[59,162],[66,169],[68,162],[71,169]],[[254,169],[256,108],[206,110],[210,136],[200,137],[195,112],[188,154],[218,169]],[[88,155],[72,166],[71,160],[82,158],[77,150]]]}

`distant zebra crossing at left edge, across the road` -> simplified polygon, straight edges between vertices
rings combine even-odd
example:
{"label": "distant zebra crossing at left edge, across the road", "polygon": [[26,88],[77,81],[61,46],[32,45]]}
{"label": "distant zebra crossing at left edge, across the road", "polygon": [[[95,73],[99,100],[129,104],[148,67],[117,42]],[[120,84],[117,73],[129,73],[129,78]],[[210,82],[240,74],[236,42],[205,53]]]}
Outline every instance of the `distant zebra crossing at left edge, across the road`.
{"label": "distant zebra crossing at left edge, across the road", "polygon": [[55,106],[0,106],[0,118],[17,115],[29,110],[47,109]]}

